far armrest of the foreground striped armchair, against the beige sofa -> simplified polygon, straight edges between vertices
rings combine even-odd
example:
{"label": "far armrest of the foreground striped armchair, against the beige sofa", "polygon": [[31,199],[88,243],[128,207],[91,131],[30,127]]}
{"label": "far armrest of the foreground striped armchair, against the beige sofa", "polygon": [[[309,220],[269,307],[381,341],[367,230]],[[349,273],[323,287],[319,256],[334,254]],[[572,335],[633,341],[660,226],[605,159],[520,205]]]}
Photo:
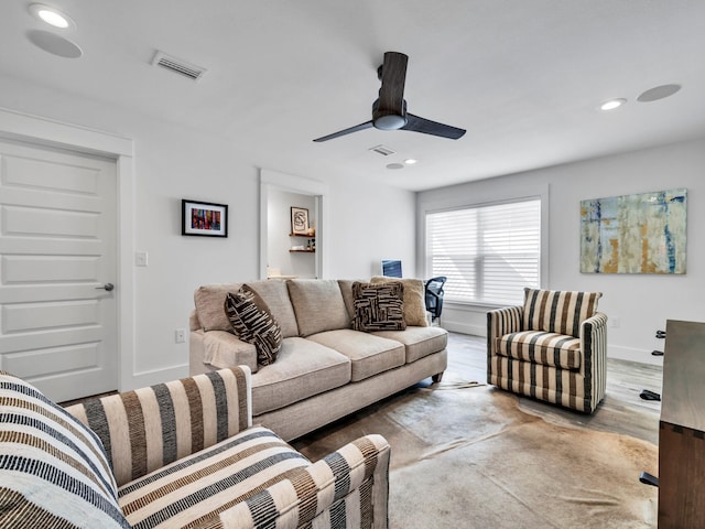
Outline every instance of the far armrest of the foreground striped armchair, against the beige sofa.
{"label": "far armrest of the foreground striped armchair, against the beige sofa", "polygon": [[66,408],[100,438],[118,486],[252,425],[250,369],[238,366]]}

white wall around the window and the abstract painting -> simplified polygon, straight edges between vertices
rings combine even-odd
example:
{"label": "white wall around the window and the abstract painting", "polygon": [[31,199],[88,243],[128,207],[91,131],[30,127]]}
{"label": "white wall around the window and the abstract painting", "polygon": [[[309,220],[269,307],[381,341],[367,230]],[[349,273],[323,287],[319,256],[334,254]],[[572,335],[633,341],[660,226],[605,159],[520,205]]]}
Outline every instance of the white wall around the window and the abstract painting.
{"label": "white wall around the window and the abstract painting", "polygon": [[[608,355],[660,364],[651,350],[666,320],[705,321],[705,140],[629,154],[541,169],[527,173],[433,190],[417,196],[419,217],[425,209],[501,199],[549,186],[549,270],[542,285],[555,290],[604,293],[599,310],[619,326],[608,330]],[[684,276],[593,274],[579,272],[579,203],[586,198],[687,188],[687,273]],[[420,230],[420,234],[422,231]],[[417,241],[420,252],[423,240]],[[419,263],[423,262],[421,253]],[[444,306],[443,325],[486,335],[487,307]]]}

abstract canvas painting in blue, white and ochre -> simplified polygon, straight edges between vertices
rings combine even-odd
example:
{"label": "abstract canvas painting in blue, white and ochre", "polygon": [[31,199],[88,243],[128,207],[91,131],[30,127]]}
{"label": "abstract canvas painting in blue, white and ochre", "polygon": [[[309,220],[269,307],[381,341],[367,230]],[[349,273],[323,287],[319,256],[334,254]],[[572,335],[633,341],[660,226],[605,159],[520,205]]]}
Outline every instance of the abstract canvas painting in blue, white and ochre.
{"label": "abstract canvas painting in blue, white and ochre", "polygon": [[685,273],[687,191],[581,202],[581,272]]}

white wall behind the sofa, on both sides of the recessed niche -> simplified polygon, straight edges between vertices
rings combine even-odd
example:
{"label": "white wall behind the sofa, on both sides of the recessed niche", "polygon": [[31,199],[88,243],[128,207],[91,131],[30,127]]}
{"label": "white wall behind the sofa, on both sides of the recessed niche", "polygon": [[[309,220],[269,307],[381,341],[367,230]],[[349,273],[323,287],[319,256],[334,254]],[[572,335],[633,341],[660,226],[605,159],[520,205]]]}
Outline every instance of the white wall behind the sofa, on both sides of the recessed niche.
{"label": "white wall behind the sofa, on both sides of the recessed niche", "polygon": [[[120,389],[186,376],[188,341],[175,344],[174,331],[188,327],[194,290],[204,283],[259,277],[259,166],[267,161],[239,152],[231,139],[161,122],[129,108],[3,76],[0,86],[0,107],[134,141],[134,197],[119,207],[133,215],[131,251],[149,252],[149,267],[134,268],[134,345],[124,345],[134,348],[127,352],[134,360]],[[413,193],[381,184],[370,193],[355,182],[333,181],[328,195],[329,277],[369,277],[370,263],[390,252],[413,262]],[[228,238],[183,237],[182,198],[228,204]],[[380,229],[380,218],[387,217],[392,219],[389,229]]]}

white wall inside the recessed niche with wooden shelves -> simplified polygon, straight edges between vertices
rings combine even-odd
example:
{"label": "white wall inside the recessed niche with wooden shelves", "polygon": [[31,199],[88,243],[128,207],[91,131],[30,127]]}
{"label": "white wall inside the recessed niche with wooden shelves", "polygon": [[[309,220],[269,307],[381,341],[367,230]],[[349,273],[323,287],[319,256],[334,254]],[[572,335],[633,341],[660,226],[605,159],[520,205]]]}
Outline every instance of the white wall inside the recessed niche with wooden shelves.
{"label": "white wall inside the recessed niche with wooden shelves", "polygon": [[268,192],[268,266],[281,270],[282,276],[315,278],[314,253],[296,253],[292,246],[306,246],[312,237],[291,237],[291,207],[308,209],[308,225],[316,226],[316,201],[312,195],[291,193],[271,187]]}

